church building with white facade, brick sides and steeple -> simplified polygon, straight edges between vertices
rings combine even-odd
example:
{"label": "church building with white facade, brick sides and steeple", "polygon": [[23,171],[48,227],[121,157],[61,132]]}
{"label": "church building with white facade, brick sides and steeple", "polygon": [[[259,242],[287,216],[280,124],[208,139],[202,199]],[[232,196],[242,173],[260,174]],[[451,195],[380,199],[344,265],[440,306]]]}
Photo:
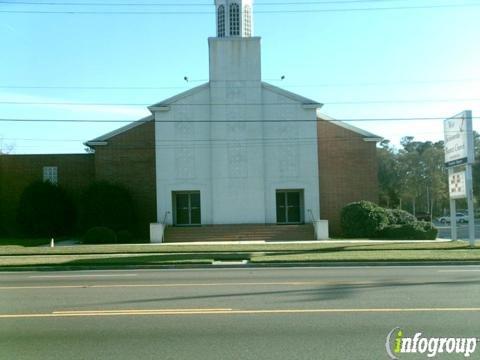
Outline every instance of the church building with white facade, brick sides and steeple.
{"label": "church building with white facade, brick sides and steeple", "polygon": [[[328,223],[330,233],[338,233],[344,205],[378,200],[380,137],[320,113],[317,101],[262,81],[252,0],[215,0],[215,6],[209,81],[86,142],[94,152],[82,155],[91,163],[85,171],[92,180],[129,188],[142,231],[149,226],[154,242],[169,235],[194,239],[205,228],[210,234],[225,229],[223,238],[233,233],[237,239],[249,226],[250,233],[268,228],[276,239],[282,232],[284,238],[325,238]],[[26,167],[55,166],[54,159],[42,163],[46,155],[29,156]],[[0,166],[19,157],[1,156]],[[56,171],[61,183],[62,170]]]}

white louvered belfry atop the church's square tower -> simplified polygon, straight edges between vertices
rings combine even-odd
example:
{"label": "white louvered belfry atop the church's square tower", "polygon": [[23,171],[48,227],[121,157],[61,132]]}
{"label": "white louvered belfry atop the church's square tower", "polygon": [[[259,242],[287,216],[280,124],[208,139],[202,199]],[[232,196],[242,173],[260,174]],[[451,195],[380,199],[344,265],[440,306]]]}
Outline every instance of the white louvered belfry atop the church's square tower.
{"label": "white louvered belfry atop the church's square tower", "polygon": [[217,37],[253,35],[253,0],[215,0]]}

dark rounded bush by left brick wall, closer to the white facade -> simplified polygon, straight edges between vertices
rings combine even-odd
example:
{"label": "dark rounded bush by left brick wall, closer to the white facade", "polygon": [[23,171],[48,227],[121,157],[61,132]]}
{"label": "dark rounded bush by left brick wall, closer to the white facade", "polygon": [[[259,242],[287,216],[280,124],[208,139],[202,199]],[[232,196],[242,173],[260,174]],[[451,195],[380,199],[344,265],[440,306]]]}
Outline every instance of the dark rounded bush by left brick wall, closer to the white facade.
{"label": "dark rounded bush by left brick wall, closer to the white facade", "polygon": [[134,230],[135,211],[127,189],[108,182],[95,182],[82,198],[83,229],[104,226],[113,231]]}

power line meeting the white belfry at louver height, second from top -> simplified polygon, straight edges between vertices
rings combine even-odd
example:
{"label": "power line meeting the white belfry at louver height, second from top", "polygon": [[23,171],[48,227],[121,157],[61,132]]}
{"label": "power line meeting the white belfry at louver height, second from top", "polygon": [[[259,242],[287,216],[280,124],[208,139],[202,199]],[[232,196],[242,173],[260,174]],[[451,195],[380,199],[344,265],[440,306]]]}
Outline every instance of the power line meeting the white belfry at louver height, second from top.
{"label": "power line meeting the white belfry at louver height, second from top", "polygon": [[[421,6],[394,6],[394,7],[369,7],[369,8],[335,8],[335,9],[296,9],[296,10],[259,10],[256,14],[300,14],[300,13],[342,13],[365,11],[390,11],[390,10],[420,10],[420,9],[446,9],[476,7],[479,3],[443,4]],[[71,14],[71,15],[213,15],[212,11],[43,11],[43,10],[0,10],[7,14]]]}

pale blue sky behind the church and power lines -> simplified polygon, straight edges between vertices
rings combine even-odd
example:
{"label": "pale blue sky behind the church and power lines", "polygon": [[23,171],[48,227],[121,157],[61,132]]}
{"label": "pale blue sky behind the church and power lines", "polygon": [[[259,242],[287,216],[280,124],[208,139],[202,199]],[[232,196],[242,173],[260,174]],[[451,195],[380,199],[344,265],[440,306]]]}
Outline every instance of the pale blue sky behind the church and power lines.
{"label": "pale blue sky behind the church and power lines", "polygon": [[[267,5],[259,0],[254,7],[265,81],[324,103],[323,112],[338,119],[443,118],[466,109],[480,116],[480,1],[292,5],[296,1]],[[208,80],[207,38],[215,35],[214,7],[179,4],[209,0],[169,7],[89,1],[95,2],[110,6],[0,1],[0,118],[136,120],[149,114],[146,105]],[[423,6],[430,7],[398,9]],[[352,11],[366,8],[396,9]],[[162,11],[174,14],[153,13]],[[282,75],[285,80],[280,81]],[[186,83],[184,76],[191,81]],[[37,88],[15,88],[29,86]],[[92,105],[99,103],[119,105]],[[441,120],[352,124],[395,144],[407,135],[442,137]],[[0,122],[0,146],[18,154],[83,152],[82,142],[121,125]],[[474,129],[480,131],[480,119],[474,119]]]}

